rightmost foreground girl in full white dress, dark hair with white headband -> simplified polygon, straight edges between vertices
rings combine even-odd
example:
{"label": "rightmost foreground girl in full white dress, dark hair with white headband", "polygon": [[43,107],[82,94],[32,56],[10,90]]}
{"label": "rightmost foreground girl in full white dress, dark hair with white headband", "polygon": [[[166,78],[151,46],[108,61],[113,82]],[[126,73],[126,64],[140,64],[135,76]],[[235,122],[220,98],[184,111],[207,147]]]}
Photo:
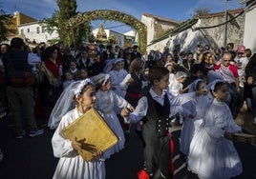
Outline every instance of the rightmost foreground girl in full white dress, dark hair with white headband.
{"label": "rightmost foreground girl in full white dress, dark hair with white headband", "polygon": [[219,81],[211,89],[215,98],[191,141],[188,169],[201,179],[228,179],[239,175],[243,169],[233,142],[225,136],[242,129],[224,103],[228,94],[226,84]]}

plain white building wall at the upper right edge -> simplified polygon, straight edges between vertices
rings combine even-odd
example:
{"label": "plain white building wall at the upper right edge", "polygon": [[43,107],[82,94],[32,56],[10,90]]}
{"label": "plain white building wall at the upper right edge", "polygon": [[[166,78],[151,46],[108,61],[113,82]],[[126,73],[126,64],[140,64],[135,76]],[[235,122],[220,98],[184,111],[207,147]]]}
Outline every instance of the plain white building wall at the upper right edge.
{"label": "plain white building wall at the upper right edge", "polygon": [[246,49],[251,49],[253,53],[256,52],[255,19],[256,7],[253,10],[245,12],[244,45]]}

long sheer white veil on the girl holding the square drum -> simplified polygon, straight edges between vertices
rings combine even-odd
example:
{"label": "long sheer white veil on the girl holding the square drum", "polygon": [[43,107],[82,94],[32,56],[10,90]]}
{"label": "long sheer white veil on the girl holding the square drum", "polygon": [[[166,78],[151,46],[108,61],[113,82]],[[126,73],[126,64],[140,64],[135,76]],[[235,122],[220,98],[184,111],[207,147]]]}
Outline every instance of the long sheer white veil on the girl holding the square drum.
{"label": "long sheer white veil on the girl holding the square drum", "polygon": [[50,127],[50,129],[56,129],[62,116],[71,109],[75,109],[74,97],[89,83],[92,83],[89,78],[75,81],[62,91],[50,115],[48,122],[48,127]]}

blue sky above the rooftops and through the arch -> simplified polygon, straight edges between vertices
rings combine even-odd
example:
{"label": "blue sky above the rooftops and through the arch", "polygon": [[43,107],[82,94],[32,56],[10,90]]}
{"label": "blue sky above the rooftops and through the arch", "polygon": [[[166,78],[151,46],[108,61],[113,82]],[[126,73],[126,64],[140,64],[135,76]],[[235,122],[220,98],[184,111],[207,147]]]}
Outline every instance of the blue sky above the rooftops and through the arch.
{"label": "blue sky above the rooftops and through the arch", "polygon": [[[54,10],[58,10],[54,0],[0,0],[2,8],[9,14],[15,10],[41,20],[49,18]],[[77,11],[119,10],[140,19],[143,13],[150,13],[165,18],[184,21],[191,18],[198,8],[209,8],[211,12],[224,11],[224,0],[77,0]],[[243,8],[239,0],[228,0],[227,10]],[[93,28],[99,23],[112,30],[126,32],[130,27],[110,21],[93,21]],[[114,27],[114,28],[113,28]],[[115,28],[116,27],[116,28]]]}

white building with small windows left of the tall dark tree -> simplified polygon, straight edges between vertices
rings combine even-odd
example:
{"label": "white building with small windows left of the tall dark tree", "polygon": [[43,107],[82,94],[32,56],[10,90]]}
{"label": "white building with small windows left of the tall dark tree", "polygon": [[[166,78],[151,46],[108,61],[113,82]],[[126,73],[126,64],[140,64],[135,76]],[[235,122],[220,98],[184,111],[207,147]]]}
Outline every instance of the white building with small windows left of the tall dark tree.
{"label": "white building with small windows left of the tall dark tree", "polygon": [[39,24],[39,22],[19,26],[18,33],[24,34],[25,38],[29,39],[31,42],[34,39],[36,43],[40,43],[40,42],[47,43],[49,40],[58,38],[58,33],[56,30],[54,30],[53,33],[51,34],[48,33],[47,31],[42,31],[42,25]]}

